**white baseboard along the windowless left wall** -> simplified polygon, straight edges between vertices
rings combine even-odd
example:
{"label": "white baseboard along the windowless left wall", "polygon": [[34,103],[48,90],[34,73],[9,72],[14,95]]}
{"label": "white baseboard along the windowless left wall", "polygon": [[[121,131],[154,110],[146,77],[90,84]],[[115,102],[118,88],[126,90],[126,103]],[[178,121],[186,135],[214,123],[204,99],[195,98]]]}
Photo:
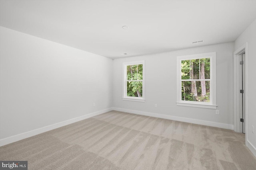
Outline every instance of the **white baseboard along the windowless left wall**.
{"label": "white baseboard along the windowless left wall", "polygon": [[34,135],[38,135],[40,133],[44,133],[46,131],[50,131],[52,129],[56,129],[56,128],[59,128],[59,127],[65,126],[65,125],[69,125],[71,123],[75,123],[77,121],[88,119],[90,117],[100,115],[102,113],[106,113],[106,112],[111,111],[111,110],[113,110],[112,107],[110,107],[108,109],[96,111],[94,113],[89,113],[87,115],[83,115],[83,116],[76,117],[76,118],[73,118],[73,119],[69,119],[69,120],[66,120],[66,121],[62,121],[62,122],[59,122],[59,123],[55,123],[53,125],[49,125],[49,126],[46,126],[46,127],[42,127],[42,128],[39,128],[39,129],[35,129],[35,130],[32,130],[32,131],[28,131],[28,132],[25,132],[25,133],[21,133],[21,134],[18,134],[18,135],[7,137],[7,138],[4,138],[4,139],[0,140],[0,147],[4,146],[4,145],[7,145],[9,143],[20,141],[20,140],[28,138],[28,137],[32,137]]}

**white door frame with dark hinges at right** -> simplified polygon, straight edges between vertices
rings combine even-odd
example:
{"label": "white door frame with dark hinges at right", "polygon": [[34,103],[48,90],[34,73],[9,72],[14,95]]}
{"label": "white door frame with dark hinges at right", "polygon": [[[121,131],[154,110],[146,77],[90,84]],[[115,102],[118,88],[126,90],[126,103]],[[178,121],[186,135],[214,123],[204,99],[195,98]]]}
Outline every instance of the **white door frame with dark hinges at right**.
{"label": "white door frame with dark hinges at right", "polygon": [[239,114],[239,110],[240,110],[240,55],[242,55],[243,53],[245,53],[245,62],[244,62],[244,66],[245,66],[245,87],[244,87],[244,95],[245,95],[245,137],[246,137],[246,146],[247,146],[247,132],[248,132],[248,123],[247,123],[247,96],[248,96],[248,92],[247,92],[247,86],[248,86],[248,77],[247,77],[247,55],[248,55],[248,43],[246,42],[244,45],[242,45],[241,47],[239,47],[236,51],[234,51],[234,57],[233,57],[233,64],[234,64],[234,131],[235,132],[241,132],[241,123],[240,123],[240,114]]}

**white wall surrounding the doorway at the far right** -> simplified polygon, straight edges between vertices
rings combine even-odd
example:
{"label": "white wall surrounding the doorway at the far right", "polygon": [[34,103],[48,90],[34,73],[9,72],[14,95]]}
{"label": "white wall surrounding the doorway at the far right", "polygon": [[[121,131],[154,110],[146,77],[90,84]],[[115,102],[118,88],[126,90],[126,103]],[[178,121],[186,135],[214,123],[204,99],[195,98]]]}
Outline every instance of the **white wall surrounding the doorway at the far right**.
{"label": "white wall surrounding the doorway at the far right", "polygon": [[[249,25],[246,30],[234,42],[234,50],[248,42],[247,53],[247,69],[248,69],[248,131],[247,142],[250,150],[256,156],[256,20]],[[252,133],[252,126],[254,126],[254,134]]]}

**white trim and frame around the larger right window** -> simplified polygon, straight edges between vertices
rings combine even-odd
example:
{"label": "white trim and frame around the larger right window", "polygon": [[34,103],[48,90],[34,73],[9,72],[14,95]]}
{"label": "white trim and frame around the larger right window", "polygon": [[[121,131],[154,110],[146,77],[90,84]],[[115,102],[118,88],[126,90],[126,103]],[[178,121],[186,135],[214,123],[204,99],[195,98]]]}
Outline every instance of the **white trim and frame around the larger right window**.
{"label": "white trim and frame around the larger right window", "polygon": [[[184,101],[181,99],[181,61],[210,58],[210,102]],[[216,109],[216,52],[177,57],[177,106],[202,107]]]}

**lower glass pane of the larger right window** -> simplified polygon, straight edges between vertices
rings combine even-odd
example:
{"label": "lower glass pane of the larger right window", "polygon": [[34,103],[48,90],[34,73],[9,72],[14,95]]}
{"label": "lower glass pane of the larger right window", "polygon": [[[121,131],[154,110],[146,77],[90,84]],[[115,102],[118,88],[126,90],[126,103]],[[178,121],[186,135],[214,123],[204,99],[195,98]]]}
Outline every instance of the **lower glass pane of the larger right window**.
{"label": "lower glass pane of the larger right window", "polygon": [[210,81],[182,81],[182,100],[210,102]]}

